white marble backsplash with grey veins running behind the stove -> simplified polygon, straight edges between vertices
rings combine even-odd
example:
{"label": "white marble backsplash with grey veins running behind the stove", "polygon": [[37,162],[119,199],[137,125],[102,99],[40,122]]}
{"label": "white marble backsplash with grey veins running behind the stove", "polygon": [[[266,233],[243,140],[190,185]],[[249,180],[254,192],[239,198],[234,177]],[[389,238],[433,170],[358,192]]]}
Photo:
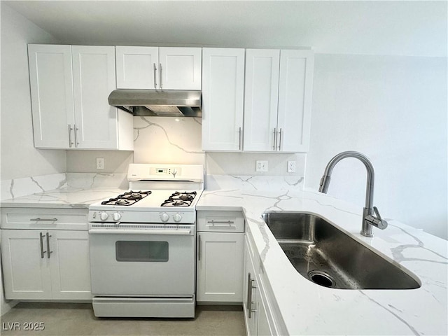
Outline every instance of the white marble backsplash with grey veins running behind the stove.
{"label": "white marble backsplash with grey veins running behind the stove", "polygon": [[[134,151],[66,151],[66,173],[1,181],[1,200],[59,188],[127,189],[127,165],[181,163],[204,165],[205,186],[240,190],[302,189],[304,153],[232,153],[202,151],[202,119],[134,117]],[[104,170],[96,169],[104,158]],[[268,172],[255,172],[255,161],[266,160]],[[287,173],[287,162],[296,172]]]}

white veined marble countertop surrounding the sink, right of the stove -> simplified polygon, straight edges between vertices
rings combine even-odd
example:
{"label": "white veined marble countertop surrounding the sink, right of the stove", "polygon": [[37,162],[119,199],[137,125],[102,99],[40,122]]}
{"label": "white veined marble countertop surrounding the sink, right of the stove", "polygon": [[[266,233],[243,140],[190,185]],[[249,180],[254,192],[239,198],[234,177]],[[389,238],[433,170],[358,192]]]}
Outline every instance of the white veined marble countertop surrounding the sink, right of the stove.
{"label": "white veined marble countertop surrounding the sink, right of the stove", "polygon": [[[448,335],[448,241],[391,218],[374,237],[360,235],[362,209],[313,191],[205,190],[200,210],[242,210],[289,335]],[[414,290],[342,290],[304,279],[261,214],[305,211],[335,223],[421,280]]]}

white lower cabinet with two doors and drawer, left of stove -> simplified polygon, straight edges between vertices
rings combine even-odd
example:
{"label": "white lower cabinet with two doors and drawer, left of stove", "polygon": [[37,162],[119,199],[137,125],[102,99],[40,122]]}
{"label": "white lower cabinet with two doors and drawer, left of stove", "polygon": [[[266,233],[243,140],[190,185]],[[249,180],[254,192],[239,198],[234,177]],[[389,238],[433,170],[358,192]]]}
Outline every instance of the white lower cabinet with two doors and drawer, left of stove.
{"label": "white lower cabinet with two doors and drawer, left of stove", "polygon": [[[6,214],[5,214],[6,212]],[[3,285],[8,300],[90,300],[89,235],[87,230],[48,230],[80,225],[80,211],[73,215],[74,223],[64,222],[70,215],[62,212],[24,209],[2,210],[1,260]],[[71,212],[73,212],[71,210]],[[87,212],[87,211],[86,211]],[[35,215],[40,217],[35,217]],[[47,216],[48,215],[48,216]],[[10,229],[20,217],[27,226],[36,228]],[[85,216],[87,217],[87,216]],[[85,222],[87,225],[87,221]],[[6,228],[5,228],[6,227]],[[40,230],[39,230],[40,229]]]}

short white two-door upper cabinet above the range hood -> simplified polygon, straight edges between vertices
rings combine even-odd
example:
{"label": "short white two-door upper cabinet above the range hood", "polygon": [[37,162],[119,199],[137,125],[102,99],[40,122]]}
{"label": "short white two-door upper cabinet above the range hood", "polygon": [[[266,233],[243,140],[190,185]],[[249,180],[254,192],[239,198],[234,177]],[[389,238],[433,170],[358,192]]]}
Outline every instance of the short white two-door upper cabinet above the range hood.
{"label": "short white two-door upper cabinet above the range hood", "polygon": [[201,90],[202,48],[116,46],[119,89]]}

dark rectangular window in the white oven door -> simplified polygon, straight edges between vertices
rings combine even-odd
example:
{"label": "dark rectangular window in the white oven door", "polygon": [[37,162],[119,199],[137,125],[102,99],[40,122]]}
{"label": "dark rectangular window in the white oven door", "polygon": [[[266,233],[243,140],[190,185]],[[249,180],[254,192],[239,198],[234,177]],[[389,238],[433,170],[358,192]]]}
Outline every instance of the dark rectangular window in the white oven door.
{"label": "dark rectangular window in the white oven door", "polygon": [[168,241],[116,241],[115,247],[117,261],[168,261]]}

